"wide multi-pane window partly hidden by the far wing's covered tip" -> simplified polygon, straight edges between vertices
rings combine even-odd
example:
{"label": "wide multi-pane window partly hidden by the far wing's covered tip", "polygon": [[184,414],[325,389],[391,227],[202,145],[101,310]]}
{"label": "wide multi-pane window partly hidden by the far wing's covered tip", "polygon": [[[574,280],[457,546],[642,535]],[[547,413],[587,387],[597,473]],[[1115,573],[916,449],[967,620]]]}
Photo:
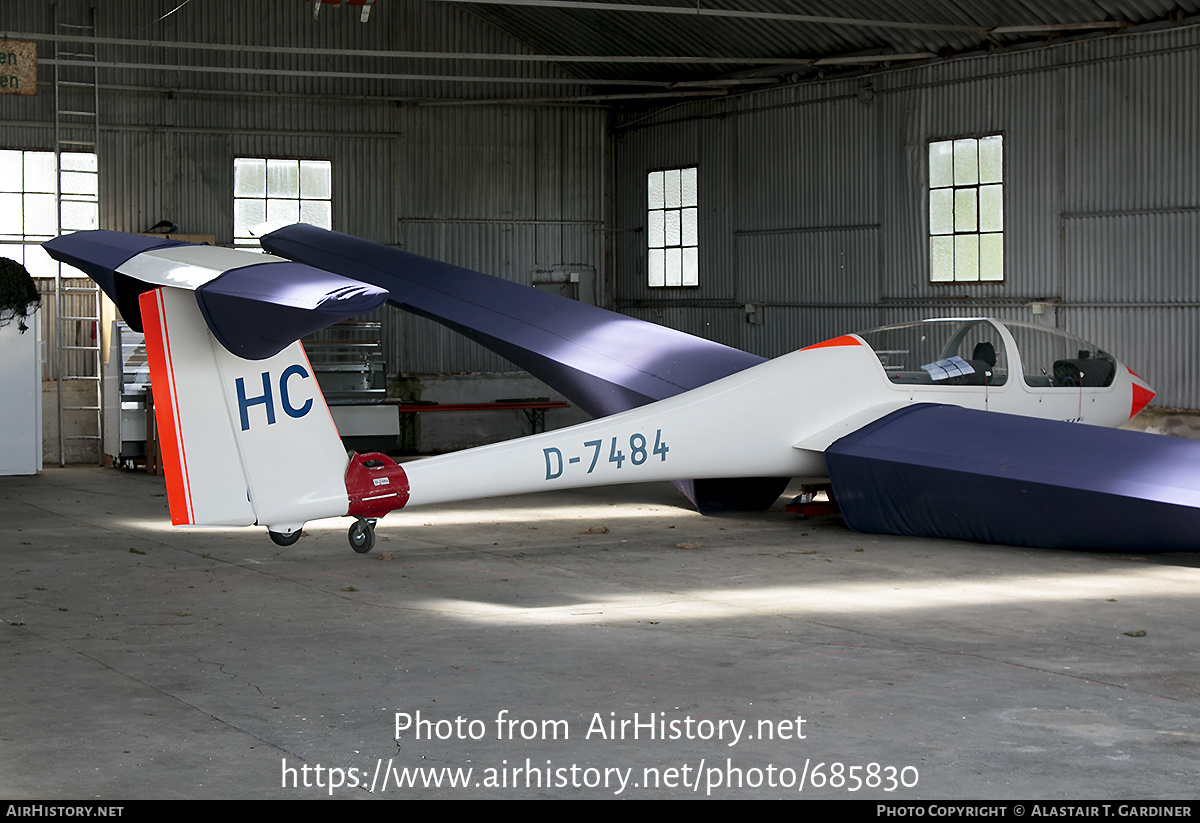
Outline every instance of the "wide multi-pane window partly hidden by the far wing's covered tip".
{"label": "wide multi-pane window partly hidden by the far wing's covered tip", "polygon": [[233,242],[258,246],[259,223],[310,223],[334,228],[332,164],[328,160],[233,161]]}

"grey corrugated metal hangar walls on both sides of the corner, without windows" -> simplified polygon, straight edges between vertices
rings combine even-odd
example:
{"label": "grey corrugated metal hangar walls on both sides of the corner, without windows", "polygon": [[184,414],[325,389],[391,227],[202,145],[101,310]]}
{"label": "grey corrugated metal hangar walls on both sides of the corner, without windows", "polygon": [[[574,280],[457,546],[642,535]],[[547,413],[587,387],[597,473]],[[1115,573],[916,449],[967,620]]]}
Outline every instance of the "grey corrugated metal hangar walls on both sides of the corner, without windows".
{"label": "grey corrugated metal hangar walls on both sides of the corner, without windows", "polygon": [[[60,10],[88,5],[65,0]],[[100,2],[97,34],[527,50],[446,4],[380,4],[365,25],[344,10],[326,10],[313,24],[299,0],[186,4],[156,22],[163,11],[152,0]],[[10,32],[53,29],[50,4],[12,4],[4,14]],[[235,156],[329,158],[337,229],[520,282],[556,266],[589,266],[602,275],[601,301],[764,355],[910,317],[1030,319],[1027,304],[1045,301],[1055,306],[1046,320],[1096,337],[1146,372],[1160,403],[1200,408],[1200,376],[1181,362],[1194,359],[1200,336],[1195,28],[613,115],[413,102],[445,98],[450,88],[473,97],[578,90],[551,64],[514,64],[499,72],[517,78],[508,84],[449,84],[397,78],[485,72],[342,55],[318,60],[313,72],[311,56],[248,49],[97,50],[113,62],[221,70],[101,72],[106,228],[170,218],[229,242]],[[47,43],[41,53],[52,53]],[[0,98],[5,146],[53,148],[49,76],[41,70],[37,97]],[[1006,138],[1007,282],[934,287],[928,142],[992,132]],[[650,290],[646,173],[690,164],[701,169],[702,286]],[[394,370],[508,368],[418,319],[389,313],[386,329]]]}

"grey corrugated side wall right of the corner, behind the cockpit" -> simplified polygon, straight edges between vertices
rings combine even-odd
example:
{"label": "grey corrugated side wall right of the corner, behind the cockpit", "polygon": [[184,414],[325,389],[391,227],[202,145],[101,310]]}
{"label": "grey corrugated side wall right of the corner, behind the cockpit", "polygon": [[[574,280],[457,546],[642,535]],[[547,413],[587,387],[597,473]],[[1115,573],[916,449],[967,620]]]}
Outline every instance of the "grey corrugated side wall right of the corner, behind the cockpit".
{"label": "grey corrugated side wall right of the corner, behind the cockpit", "polygon": [[[1064,43],[614,119],[622,311],[773,356],[990,313],[1091,337],[1200,408],[1200,30]],[[928,144],[1004,136],[1006,277],[929,283]],[[701,287],[646,286],[646,174],[697,164]],[[755,304],[748,314],[745,304]],[[754,322],[751,322],[754,320]]]}

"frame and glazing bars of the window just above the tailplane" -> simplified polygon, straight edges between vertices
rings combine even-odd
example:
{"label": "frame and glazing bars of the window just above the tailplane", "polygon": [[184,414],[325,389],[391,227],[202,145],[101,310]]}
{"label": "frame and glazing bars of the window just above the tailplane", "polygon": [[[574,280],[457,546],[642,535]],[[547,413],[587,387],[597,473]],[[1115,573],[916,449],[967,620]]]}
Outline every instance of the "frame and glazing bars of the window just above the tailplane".
{"label": "frame and glazing bars of the window just above the tailplane", "polygon": [[[262,188],[250,191],[254,185],[247,178],[239,174],[239,166],[242,163],[263,163]],[[328,176],[323,186],[318,186],[318,192],[310,188],[306,193],[304,185],[304,166],[306,163],[324,164]],[[284,166],[293,166],[295,169],[295,197],[290,194],[271,193],[271,167],[282,169]],[[286,182],[282,185],[287,185]],[[253,209],[242,204],[260,203],[260,215],[254,215]],[[312,212],[305,215],[305,204],[328,204],[328,221],[318,222],[311,220]],[[283,209],[272,204],[295,204],[295,211],[282,214]],[[274,214],[272,214],[274,211]],[[320,215],[325,216],[325,215]],[[254,220],[262,217],[262,220]],[[334,161],[326,157],[241,157],[233,158],[233,245],[235,248],[254,250],[260,248],[258,238],[250,234],[250,229],[259,223],[269,221],[289,221],[290,223],[308,223],[324,229],[334,228]]]}

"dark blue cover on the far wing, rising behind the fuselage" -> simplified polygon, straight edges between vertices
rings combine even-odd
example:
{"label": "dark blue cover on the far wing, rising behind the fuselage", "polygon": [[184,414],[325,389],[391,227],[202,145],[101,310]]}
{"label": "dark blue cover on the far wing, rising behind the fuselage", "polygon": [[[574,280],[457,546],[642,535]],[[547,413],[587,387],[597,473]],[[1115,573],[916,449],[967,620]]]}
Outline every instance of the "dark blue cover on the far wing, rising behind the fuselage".
{"label": "dark blue cover on the far wing, rising behind the fuselage", "polygon": [[746,352],[478,271],[296,224],[263,248],[366,281],[524,368],[593,416],[616,414],[763,361]]}

